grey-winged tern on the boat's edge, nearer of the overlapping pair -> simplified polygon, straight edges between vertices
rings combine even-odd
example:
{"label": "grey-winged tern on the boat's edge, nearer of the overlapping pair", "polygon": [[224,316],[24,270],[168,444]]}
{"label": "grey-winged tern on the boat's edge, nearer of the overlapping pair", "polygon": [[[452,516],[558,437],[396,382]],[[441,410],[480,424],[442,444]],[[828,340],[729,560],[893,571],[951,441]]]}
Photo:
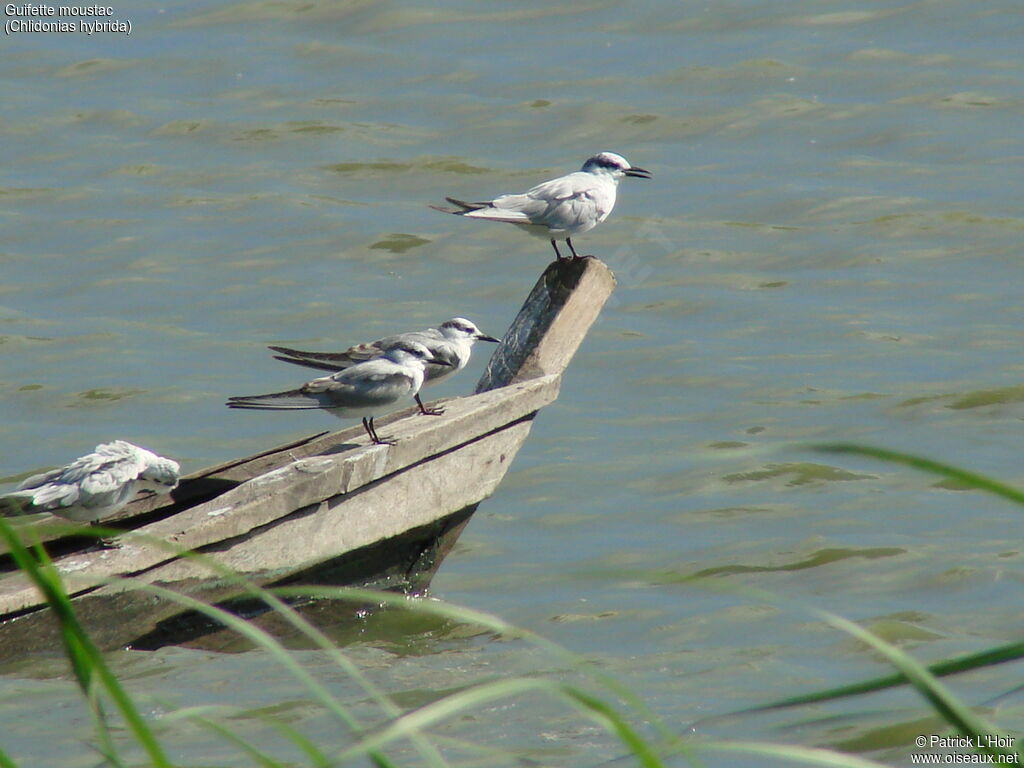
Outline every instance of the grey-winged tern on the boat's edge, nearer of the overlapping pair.
{"label": "grey-winged tern on the boat's edge, nearer of the overlapping pair", "polygon": [[379,357],[313,379],[298,389],[229,397],[227,407],[261,411],[323,409],[339,419],[360,417],[371,440],[379,445],[393,445],[394,440],[378,436],[374,417],[391,411],[399,400],[419,394],[428,362],[452,365],[434,357],[423,344],[404,341]]}

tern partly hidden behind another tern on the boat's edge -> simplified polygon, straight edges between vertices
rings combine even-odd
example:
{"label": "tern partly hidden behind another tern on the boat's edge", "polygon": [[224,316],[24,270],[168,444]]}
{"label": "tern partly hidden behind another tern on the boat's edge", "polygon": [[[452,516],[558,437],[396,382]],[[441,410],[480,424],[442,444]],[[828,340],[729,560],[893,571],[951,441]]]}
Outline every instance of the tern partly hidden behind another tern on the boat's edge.
{"label": "tern partly hidden behind another tern on the boat's edge", "polygon": [[[291,347],[270,347],[275,354],[274,358],[292,362],[296,366],[315,368],[322,371],[344,371],[354,365],[374,357],[379,357],[395,344],[407,341],[415,341],[428,350],[436,359],[443,360],[447,365],[437,362],[427,362],[423,379],[423,386],[436,384],[447,378],[457,371],[461,371],[469,362],[469,357],[473,352],[473,343],[477,341],[490,341],[500,343],[499,339],[483,333],[476,324],[465,317],[453,317],[445,321],[438,328],[427,328],[423,331],[411,331],[395,336],[385,336],[383,339],[371,341],[364,344],[356,344],[349,347],[344,352],[306,352],[301,349]],[[442,409],[428,409],[420,399],[417,392],[413,395],[416,404],[420,407],[420,413],[425,416],[438,416],[443,413]]]}

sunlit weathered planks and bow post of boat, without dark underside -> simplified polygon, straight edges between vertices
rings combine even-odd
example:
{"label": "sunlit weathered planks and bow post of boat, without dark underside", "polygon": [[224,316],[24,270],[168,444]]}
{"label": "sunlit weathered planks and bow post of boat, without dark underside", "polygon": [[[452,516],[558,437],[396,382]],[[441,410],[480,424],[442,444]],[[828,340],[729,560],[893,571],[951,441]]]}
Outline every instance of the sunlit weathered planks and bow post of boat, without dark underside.
{"label": "sunlit weathered planks and bow post of boat, without dark underside", "polygon": [[[396,438],[395,445],[371,444],[353,426],[195,473],[171,503],[139,500],[106,521],[136,534],[123,537],[120,549],[81,551],[79,543],[76,551],[75,543],[48,543],[57,567],[74,595],[103,606],[90,609],[100,625],[126,625],[106,628],[118,644],[126,642],[126,631],[138,631],[132,617],[160,621],[173,606],[155,608],[139,593],[104,587],[111,577],[191,585],[216,599],[199,566],[137,535],[215,550],[220,562],[268,583],[403,532],[429,531],[497,487],[532,416],[558,396],[561,374],[613,286],[595,259],[553,262],[495,352],[477,394],[442,401],[440,417],[409,409],[378,420],[378,430]],[[45,526],[42,532],[45,541]],[[0,625],[0,656],[13,625],[14,635],[41,632],[29,630],[47,621],[32,615],[42,607],[16,571],[0,580],[0,618],[23,614]]]}

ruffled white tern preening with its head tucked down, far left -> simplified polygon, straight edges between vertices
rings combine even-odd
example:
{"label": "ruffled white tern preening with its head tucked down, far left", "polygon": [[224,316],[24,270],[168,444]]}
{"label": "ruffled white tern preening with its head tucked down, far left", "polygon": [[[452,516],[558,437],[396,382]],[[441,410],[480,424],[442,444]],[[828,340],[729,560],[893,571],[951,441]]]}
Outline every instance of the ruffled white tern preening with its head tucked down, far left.
{"label": "ruffled white tern preening with its head tucked down, far left", "polygon": [[7,514],[51,512],[76,522],[110,517],[140,490],[169,494],[178,484],[178,463],[124,440],[96,450],[66,467],[28,478],[0,497]]}

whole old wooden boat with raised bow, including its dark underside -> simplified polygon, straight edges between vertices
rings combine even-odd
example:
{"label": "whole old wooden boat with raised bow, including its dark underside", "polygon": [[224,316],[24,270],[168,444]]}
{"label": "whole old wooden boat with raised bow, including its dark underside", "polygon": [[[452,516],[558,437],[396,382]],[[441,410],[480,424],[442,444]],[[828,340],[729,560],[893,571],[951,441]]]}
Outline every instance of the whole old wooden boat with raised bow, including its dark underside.
{"label": "whole old wooden boat with raised bow, including its dark underside", "polygon": [[[79,617],[102,648],[155,648],[210,632],[169,601],[110,584],[130,575],[232,605],[239,587],[171,548],[205,553],[260,585],[333,584],[422,589],[476,506],[498,487],[534,417],[552,402],[614,278],[600,261],[553,262],[487,364],[475,393],[379,419],[395,445],[361,426],[321,433],[185,477],[170,500],[140,499],[104,525],[119,547],[46,543]],[[32,536],[26,535],[27,540]],[[56,649],[41,595],[0,554],[0,658]]]}

